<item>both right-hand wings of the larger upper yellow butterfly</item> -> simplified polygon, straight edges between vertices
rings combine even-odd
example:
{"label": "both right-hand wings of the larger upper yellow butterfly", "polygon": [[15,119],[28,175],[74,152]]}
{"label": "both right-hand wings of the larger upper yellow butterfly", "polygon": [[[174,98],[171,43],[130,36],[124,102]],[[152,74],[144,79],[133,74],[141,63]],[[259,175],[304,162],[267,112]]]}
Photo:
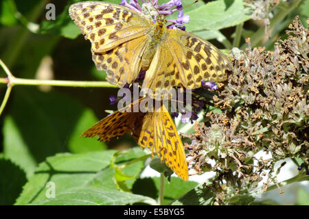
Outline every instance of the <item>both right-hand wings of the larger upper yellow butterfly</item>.
{"label": "both right-hand wings of the larger upper yellow butterfly", "polygon": [[212,44],[185,31],[168,29],[155,51],[142,88],[199,88],[201,81],[225,81],[231,70],[227,57]]}

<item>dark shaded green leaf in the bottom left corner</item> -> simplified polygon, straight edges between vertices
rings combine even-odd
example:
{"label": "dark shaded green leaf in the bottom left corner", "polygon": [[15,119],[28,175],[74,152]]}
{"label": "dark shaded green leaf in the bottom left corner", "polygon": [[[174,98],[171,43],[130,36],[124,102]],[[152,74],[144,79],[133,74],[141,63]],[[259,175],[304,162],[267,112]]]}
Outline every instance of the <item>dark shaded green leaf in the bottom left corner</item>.
{"label": "dark shaded green leaf in the bottom left corner", "polygon": [[26,182],[25,172],[7,159],[0,159],[0,205],[12,205]]}

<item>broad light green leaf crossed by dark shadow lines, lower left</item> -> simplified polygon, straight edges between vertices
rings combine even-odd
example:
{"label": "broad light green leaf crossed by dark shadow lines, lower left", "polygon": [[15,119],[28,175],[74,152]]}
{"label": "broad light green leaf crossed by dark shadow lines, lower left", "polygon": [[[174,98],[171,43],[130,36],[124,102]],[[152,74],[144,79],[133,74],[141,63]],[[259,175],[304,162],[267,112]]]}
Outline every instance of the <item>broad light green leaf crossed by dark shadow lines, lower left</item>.
{"label": "broad light green leaf crossed by dark shadow lines, lower left", "polygon": [[[46,201],[45,187],[47,182],[55,185],[56,196],[73,188],[84,188],[94,185],[94,188],[111,190],[113,188],[107,171],[115,151],[89,152],[82,154],[62,153],[48,157],[36,169],[35,174],[25,184],[16,205],[26,205]],[[98,182],[102,179],[102,183]],[[108,183],[109,182],[109,183]],[[106,183],[106,184],[105,184]]]}

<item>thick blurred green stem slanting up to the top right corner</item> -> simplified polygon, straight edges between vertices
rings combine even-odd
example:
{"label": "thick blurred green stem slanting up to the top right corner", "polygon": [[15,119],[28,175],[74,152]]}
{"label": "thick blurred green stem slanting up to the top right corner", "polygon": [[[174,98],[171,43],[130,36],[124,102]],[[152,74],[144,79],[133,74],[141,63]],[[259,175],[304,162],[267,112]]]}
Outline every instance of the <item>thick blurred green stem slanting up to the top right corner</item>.
{"label": "thick blurred green stem slanting up to the top right corner", "polygon": [[[277,8],[282,8],[282,9],[279,12],[277,12],[277,14],[275,14],[275,16],[271,19],[271,24],[270,24],[269,29],[273,29],[273,27],[275,27],[278,23],[280,23],[286,17],[286,15],[292,12],[299,5],[299,3],[301,3],[301,1],[303,0],[295,0],[295,1],[292,1],[292,3],[290,4],[286,2],[280,3]],[[250,39],[251,47],[252,48],[256,47],[264,35],[265,35],[265,27],[263,26],[263,27],[260,27],[260,29],[258,29],[258,31],[256,31],[255,34],[251,36],[251,39]],[[242,46],[240,47],[240,49],[242,50],[246,48],[247,48],[247,43],[242,44]]]}

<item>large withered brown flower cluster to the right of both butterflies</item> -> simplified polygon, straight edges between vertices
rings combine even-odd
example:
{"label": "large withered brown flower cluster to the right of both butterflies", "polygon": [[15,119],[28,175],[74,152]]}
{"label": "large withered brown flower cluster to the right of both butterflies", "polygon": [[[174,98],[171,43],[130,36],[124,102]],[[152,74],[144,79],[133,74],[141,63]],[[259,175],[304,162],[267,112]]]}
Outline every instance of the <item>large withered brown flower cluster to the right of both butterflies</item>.
{"label": "large withered brown flower cluster to the right of both butterflies", "polygon": [[[309,19],[307,20],[309,23]],[[277,183],[276,162],[301,158],[309,175],[309,31],[296,17],[288,38],[277,40],[274,51],[233,49],[233,74],[214,96],[221,113],[208,112],[185,144],[190,168],[198,174],[214,171],[205,185],[216,194],[214,204],[233,203]],[[271,159],[255,157],[265,151]],[[300,169],[300,168],[299,168]],[[305,170],[306,169],[306,170]],[[237,199],[237,198],[236,198]]]}

